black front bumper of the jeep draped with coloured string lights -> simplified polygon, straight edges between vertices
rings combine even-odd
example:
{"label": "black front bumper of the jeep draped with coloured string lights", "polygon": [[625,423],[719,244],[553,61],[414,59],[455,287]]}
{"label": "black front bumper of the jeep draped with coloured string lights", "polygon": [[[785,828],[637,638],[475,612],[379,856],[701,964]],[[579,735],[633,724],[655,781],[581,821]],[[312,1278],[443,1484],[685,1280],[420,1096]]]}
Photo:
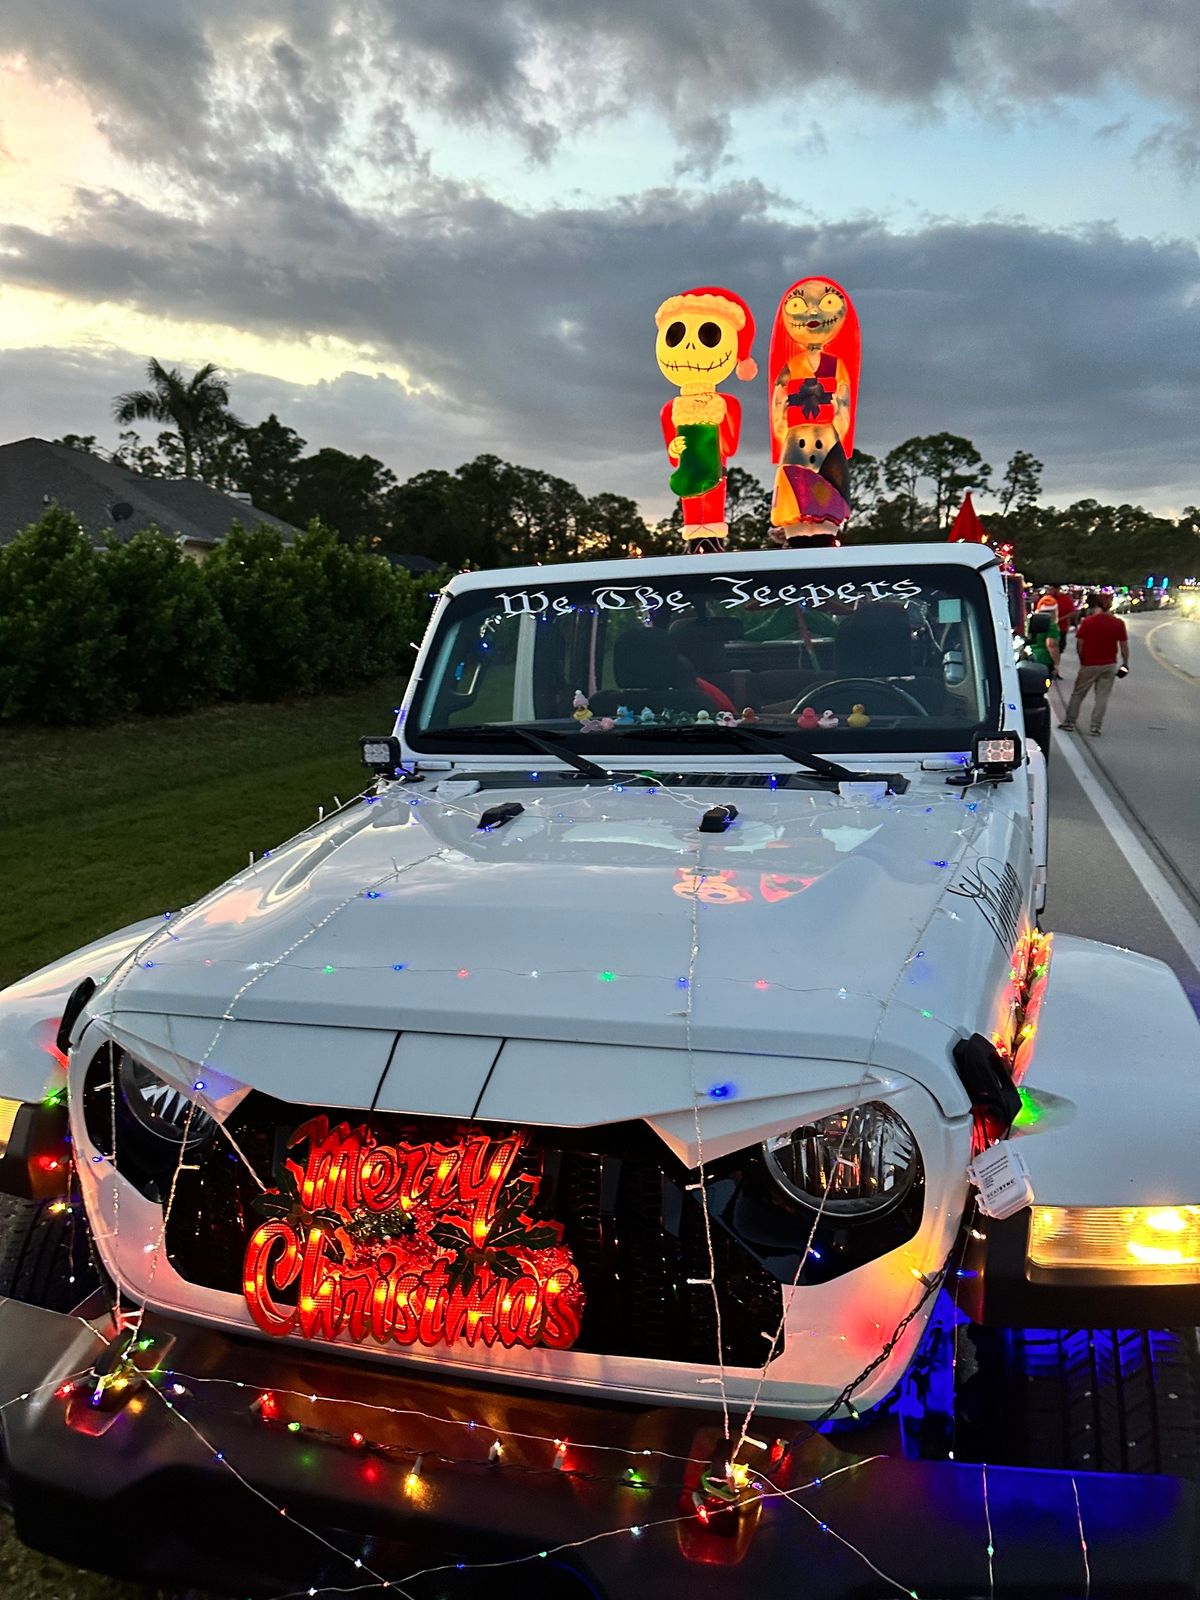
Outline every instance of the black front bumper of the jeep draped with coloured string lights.
{"label": "black front bumper of the jeep draped with coloured string lights", "polygon": [[[850,1435],[846,1454],[803,1426],[760,1418],[757,1437],[797,1442],[786,1478],[763,1466],[790,1493],[768,1493],[749,1536],[731,1539],[685,1510],[686,1462],[714,1442],[709,1410],[438,1382],[154,1317],[144,1331],[166,1349],[166,1371],[110,1427],[88,1432],[56,1390],[94,1363],[96,1334],[75,1317],[0,1301],[18,1533],[134,1581],[256,1600],[384,1592],[368,1573],[414,1600],[694,1600],[698,1584],[706,1600],[1200,1597],[1200,1486],[1174,1478],[896,1458],[854,1466],[870,1454],[866,1435]],[[358,1430],[387,1448],[357,1442]],[[488,1459],[496,1438],[501,1462]],[[558,1469],[555,1440],[571,1442]],[[520,1565],[470,1570],[496,1562]],[[411,1576],[427,1568],[438,1571]]]}

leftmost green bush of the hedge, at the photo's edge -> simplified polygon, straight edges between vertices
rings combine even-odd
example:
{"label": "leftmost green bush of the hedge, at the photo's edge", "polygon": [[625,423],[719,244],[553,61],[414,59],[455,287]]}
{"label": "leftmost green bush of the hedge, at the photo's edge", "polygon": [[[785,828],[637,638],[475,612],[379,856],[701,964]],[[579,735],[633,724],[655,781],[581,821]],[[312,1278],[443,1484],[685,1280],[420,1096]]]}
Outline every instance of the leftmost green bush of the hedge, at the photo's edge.
{"label": "leftmost green bush of the hedge, at the photo's edge", "polygon": [[106,560],[58,506],[0,549],[0,717],[106,722],[130,709]]}

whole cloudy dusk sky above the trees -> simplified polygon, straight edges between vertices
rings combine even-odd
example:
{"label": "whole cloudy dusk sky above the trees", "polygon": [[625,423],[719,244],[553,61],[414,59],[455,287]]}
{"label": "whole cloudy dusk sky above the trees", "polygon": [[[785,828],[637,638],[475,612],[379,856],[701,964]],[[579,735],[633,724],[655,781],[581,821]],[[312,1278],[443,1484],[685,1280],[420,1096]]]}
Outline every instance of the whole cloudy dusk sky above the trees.
{"label": "whole cloudy dusk sky above the trees", "polygon": [[[1173,514],[1198,230],[1195,0],[0,8],[0,440],[115,445],[149,357],[211,360],[312,448],[661,515],[658,304],[728,286],[765,368],[826,274],[861,448],[963,434],[1045,501]],[[766,482],[765,379],[726,389]]]}

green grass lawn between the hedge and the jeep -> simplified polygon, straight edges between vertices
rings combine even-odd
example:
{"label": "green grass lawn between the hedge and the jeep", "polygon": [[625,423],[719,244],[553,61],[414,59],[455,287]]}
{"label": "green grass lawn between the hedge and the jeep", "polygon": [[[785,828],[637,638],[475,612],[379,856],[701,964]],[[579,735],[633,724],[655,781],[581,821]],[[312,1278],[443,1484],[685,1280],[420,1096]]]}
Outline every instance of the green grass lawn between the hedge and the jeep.
{"label": "green grass lawn between the hedge and the jeep", "polygon": [[394,683],[110,728],[0,728],[0,986],[174,910],[365,787]]}

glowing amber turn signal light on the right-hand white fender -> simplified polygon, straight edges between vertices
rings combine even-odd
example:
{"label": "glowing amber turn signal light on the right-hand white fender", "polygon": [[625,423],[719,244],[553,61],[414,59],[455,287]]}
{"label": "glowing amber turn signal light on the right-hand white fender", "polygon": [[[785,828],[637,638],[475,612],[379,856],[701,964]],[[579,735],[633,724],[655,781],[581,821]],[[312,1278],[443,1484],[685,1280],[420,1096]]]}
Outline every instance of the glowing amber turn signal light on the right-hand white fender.
{"label": "glowing amber turn signal light on the right-hand white fender", "polygon": [[1027,1258],[1030,1267],[1200,1282],[1200,1205],[1034,1206]]}

